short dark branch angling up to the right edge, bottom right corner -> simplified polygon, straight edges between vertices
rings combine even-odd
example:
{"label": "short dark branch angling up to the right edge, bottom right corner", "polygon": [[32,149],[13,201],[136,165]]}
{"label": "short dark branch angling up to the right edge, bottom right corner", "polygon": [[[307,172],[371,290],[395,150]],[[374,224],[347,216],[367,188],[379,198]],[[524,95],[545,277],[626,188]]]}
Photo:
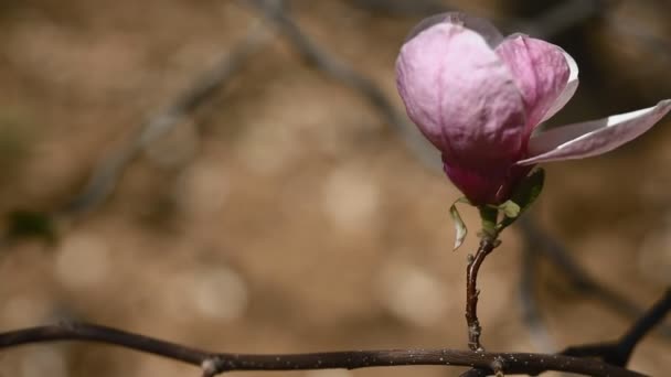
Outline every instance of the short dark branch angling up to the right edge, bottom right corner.
{"label": "short dark branch angling up to the right edge, bottom right corner", "polygon": [[654,326],[663,321],[670,311],[671,288],[617,342],[569,347],[562,354],[578,357],[600,357],[608,364],[624,367],[629,363],[633,348]]}

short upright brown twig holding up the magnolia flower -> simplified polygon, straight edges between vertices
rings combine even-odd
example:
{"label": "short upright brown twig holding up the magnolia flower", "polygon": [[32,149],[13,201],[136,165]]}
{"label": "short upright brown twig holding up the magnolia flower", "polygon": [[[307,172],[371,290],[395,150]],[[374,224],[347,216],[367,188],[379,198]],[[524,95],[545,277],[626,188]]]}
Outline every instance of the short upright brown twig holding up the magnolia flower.
{"label": "short upright brown twig holding up the magnolia flower", "polygon": [[482,237],[480,240],[480,247],[476,255],[468,256],[468,266],[466,267],[466,323],[468,324],[468,346],[472,351],[483,352],[482,345],[480,344],[480,334],[482,327],[478,320],[478,271],[480,265],[484,261],[484,258],[497,247],[497,240]]}

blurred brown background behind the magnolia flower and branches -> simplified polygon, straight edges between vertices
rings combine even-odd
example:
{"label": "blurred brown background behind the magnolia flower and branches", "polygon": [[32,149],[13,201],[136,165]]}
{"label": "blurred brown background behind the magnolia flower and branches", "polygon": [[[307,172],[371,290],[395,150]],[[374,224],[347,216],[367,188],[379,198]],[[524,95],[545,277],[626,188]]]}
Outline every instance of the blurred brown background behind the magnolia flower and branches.
{"label": "blurred brown background behind the magnolia flower and branches", "polygon": [[[668,1],[2,1],[0,330],[68,319],[222,352],[466,348],[476,212],[451,252],[460,194],[394,78],[409,29],[455,9],[576,58],[581,87],[551,126],[671,97]],[[545,166],[525,226],[480,271],[488,349],[614,340],[671,284],[670,143],[667,117]],[[671,368],[663,330],[632,368]],[[92,373],[198,370],[81,343],[0,353],[0,376]]]}

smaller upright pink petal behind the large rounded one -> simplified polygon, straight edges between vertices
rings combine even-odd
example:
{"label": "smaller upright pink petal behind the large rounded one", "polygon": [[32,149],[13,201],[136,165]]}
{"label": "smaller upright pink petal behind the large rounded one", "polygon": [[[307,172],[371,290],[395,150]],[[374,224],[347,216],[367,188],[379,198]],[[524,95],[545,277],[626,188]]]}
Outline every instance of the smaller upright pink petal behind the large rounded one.
{"label": "smaller upright pink petal behind the large rounded one", "polygon": [[571,68],[565,52],[554,44],[522,34],[508,37],[496,51],[512,72],[522,93],[528,132],[531,133],[554,109],[553,105],[566,88]]}

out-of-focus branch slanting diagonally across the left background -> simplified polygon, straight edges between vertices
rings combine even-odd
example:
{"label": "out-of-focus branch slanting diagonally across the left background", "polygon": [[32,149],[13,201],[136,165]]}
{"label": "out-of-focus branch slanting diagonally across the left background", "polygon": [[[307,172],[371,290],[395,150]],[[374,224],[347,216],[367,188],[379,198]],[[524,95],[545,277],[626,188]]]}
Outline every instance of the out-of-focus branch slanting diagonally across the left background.
{"label": "out-of-focus branch slanting diagonally across the left background", "polygon": [[244,39],[226,52],[210,71],[193,79],[191,86],[179,93],[172,103],[140,125],[130,138],[113,148],[94,166],[84,187],[75,197],[53,213],[18,209],[8,217],[8,227],[0,237],[0,248],[17,238],[40,238],[53,243],[57,238],[58,223],[95,211],[113,194],[128,165],[152,142],[169,133],[188,119],[219,89],[245,66],[245,62],[269,40],[262,25],[252,25]]}

